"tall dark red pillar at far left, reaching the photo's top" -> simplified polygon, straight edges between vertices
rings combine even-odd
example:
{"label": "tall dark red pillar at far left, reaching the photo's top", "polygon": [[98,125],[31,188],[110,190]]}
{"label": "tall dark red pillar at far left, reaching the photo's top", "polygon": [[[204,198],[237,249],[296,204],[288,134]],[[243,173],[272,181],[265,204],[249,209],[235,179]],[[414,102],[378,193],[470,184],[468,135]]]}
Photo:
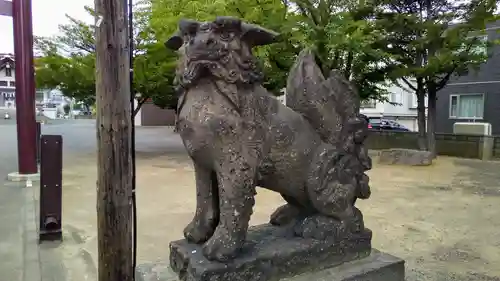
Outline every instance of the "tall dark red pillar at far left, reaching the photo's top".
{"label": "tall dark red pillar at far left, reaching the photo's top", "polygon": [[13,0],[19,174],[36,174],[35,69],[31,0]]}

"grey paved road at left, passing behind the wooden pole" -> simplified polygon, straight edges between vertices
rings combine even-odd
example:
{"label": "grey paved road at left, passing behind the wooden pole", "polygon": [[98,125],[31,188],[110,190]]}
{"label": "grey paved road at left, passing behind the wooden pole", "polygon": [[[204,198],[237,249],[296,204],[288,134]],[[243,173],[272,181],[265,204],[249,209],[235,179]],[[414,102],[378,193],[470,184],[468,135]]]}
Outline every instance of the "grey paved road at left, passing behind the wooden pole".
{"label": "grey paved road at left, passing behind the wooden pole", "polygon": [[[0,131],[0,177],[3,181],[8,173],[17,170],[15,120],[0,119]],[[50,124],[42,125],[42,134],[63,136],[65,164],[75,160],[78,155],[89,155],[96,152],[94,120],[51,121]],[[172,133],[172,129],[166,127],[138,127],[136,148],[138,155],[184,152],[179,136]],[[26,207],[26,196],[30,196],[29,192],[29,189],[23,188],[23,184],[5,181],[0,184],[0,257],[3,257],[0,262],[1,280],[35,280],[31,278],[40,280],[39,276],[26,275],[39,275],[36,270],[25,270],[29,266],[36,267],[36,264],[30,260],[33,259],[33,255],[29,255],[29,252],[35,250],[30,251],[26,248],[26,236],[34,230],[25,231],[23,225],[23,221],[29,215],[29,209]]]}

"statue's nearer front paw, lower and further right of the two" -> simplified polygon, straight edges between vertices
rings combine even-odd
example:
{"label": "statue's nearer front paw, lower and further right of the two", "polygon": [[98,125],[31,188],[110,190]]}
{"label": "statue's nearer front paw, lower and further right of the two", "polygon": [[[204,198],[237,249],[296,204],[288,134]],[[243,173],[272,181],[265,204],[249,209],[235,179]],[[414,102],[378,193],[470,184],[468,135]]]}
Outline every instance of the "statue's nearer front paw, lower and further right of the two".
{"label": "statue's nearer front paw, lower and further right of the two", "polygon": [[214,235],[203,246],[203,255],[208,260],[227,262],[237,256],[243,246],[243,240],[229,233],[231,232],[217,227]]}

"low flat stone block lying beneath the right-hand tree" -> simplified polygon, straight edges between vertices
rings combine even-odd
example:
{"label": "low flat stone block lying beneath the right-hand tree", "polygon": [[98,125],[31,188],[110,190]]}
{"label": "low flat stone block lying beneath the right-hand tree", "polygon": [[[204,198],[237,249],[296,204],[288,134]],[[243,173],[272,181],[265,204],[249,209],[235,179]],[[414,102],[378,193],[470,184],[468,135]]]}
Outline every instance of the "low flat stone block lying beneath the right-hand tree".
{"label": "low flat stone block lying beneath the right-hand tree", "polygon": [[393,148],[380,151],[379,163],[391,165],[429,166],[432,164],[429,151]]}

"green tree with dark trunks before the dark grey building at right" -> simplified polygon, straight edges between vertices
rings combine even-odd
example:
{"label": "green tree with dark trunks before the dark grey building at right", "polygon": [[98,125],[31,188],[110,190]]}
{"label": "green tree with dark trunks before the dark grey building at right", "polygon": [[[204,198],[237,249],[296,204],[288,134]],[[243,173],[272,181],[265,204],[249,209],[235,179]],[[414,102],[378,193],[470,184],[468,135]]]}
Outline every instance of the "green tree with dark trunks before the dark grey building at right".
{"label": "green tree with dark trunks before the dark grey building at right", "polygon": [[[378,21],[393,56],[393,79],[401,78],[417,96],[420,146],[436,154],[436,99],[454,75],[477,69],[491,41],[481,40],[497,18],[494,0],[376,1]],[[428,97],[427,132],[425,97]],[[425,137],[427,141],[425,142]]]}

